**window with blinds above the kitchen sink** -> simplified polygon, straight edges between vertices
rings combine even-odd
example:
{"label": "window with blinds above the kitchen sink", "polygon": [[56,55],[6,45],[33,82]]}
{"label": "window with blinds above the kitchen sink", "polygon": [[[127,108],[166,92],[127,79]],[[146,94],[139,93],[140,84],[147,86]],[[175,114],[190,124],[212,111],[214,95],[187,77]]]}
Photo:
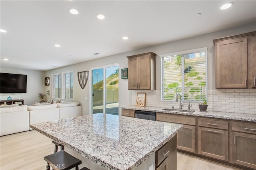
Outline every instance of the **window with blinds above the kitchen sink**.
{"label": "window with blinds above the kitchen sink", "polygon": [[207,48],[161,55],[161,100],[207,98]]}

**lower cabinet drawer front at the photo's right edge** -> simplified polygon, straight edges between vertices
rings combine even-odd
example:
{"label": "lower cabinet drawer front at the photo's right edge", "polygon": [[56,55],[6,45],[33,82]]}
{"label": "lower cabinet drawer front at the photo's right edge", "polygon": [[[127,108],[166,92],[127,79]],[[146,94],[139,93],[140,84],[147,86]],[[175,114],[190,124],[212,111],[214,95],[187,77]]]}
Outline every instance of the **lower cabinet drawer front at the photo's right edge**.
{"label": "lower cabinet drawer front at the photo's right edge", "polygon": [[256,123],[231,122],[232,131],[256,134]]}

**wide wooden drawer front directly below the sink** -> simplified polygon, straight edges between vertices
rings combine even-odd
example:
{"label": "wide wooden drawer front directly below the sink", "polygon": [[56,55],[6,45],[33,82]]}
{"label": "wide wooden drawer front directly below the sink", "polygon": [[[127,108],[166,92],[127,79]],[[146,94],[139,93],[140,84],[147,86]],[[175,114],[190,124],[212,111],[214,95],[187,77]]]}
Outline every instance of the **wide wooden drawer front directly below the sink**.
{"label": "wide wooden drawer front directly below the sink", "polygon": [[196,125],[196,118],[176,116],[172,114],[156,113],[156,121],[168,121],[185,125]]}

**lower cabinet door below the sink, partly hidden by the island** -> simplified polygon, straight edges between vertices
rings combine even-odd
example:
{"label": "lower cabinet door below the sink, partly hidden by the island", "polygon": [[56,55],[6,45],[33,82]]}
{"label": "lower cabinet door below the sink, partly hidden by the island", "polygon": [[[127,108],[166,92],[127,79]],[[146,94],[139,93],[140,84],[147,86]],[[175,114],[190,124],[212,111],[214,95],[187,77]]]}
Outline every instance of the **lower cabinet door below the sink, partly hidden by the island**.
{"label": "lower cabinet door below the sink, partly hidden by the island", "polygon": [[196,153],[196,127],[183,125],[177,136],[177,149]]}

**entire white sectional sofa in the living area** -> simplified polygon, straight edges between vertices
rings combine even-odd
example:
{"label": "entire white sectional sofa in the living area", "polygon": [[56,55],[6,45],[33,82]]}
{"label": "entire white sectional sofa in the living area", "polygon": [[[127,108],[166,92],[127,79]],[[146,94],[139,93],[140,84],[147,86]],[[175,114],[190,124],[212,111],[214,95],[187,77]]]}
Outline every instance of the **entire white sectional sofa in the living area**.
{"label": "entire white sectional sofa in the living area", "polygon": [[58,119],[82,116],[78,102],[62,102],[44,106],[15,106],[0,108],[1,136],[33,130],[30,125]]}

